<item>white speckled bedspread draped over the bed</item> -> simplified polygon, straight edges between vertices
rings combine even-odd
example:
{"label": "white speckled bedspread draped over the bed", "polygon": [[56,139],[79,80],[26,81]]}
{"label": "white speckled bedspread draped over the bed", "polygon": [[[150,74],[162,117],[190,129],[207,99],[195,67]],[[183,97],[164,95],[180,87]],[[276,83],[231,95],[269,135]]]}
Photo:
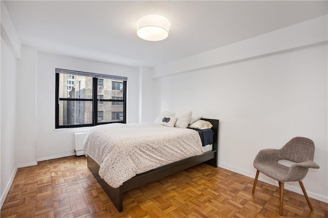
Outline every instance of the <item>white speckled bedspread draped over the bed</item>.
{"label": "white speckled bedspread draped over the bed", "polygon": [[196,131],[155,123],[99,125],[84,140],[84,153],[100,165],[99,176],[113,188],[136,174],[203,152]]}

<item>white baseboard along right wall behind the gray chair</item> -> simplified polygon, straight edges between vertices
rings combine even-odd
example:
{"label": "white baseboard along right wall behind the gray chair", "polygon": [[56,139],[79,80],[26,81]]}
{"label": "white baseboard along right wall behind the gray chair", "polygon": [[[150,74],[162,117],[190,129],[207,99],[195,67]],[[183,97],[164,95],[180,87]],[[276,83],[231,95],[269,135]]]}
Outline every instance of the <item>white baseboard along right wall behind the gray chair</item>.
{"label": "white baseboard along right wall behind the gray chair", "polygon": [[[235,172],[235,173],[238,173],[238,174],[241,174],[243,176],[247,176],[247,177],[250,177],[250,178],[255,178],[255,174],[250,174],[248,172],[244,172],[244,171],[241,171],[240,169],[236,169],[234,167],[231,167],[231,166],[228,166],[228,165],[224,165],[224,164],[221,164],[219,163],[218,164],[219,167],[221,168],[224,168],[224,169],[228,169],[228,171],[232,171],[232,172]],[[261,181],[261,182],[265,182],[265,183],[268,183],[270,185],[274,185],[274,186],[279,186],[278,185],[278,182],[274,179],[271,179],[270,177],[267,177],[265,175],[259,175],[258,177],[258,180]],[[302,189],[299,187],[299,188],[296,188],[294,186],[291,186],[291,185],[288,185],[285,183],[284,185],[284,188],[286,190],[290,190],[290,191],[293,191],[293,192],[296,192],[296,193],[299,193],[300,195],[303,195],[303,191]],[[317,193],[313,193],[313,192],[309,192],[309,191],[306,191],[308,193],[308,196],[310,198],[314,198],[318,201],[322,201],[324,203],[328,203],[328,197],[325,197],[325,196],[321,196],[321,195],[318,195]]]}

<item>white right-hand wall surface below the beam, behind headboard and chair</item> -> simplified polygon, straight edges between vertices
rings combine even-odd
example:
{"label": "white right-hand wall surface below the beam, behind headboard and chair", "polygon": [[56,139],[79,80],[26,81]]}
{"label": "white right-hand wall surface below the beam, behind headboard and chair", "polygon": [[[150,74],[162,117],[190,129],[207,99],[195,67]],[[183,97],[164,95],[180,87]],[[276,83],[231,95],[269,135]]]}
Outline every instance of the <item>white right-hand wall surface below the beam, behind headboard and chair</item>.
{"label": "white right-hand wall surface below the beam, behind headboard and chair", "polygon": [[[303,182],[310,197],[326,201],[327,58],[325,44],[157,78],[157,112],[220,119],[219,165],[251,177],[259,150],[311,138],[321,167]],[[300,192],[298,184],[286,188]]]}

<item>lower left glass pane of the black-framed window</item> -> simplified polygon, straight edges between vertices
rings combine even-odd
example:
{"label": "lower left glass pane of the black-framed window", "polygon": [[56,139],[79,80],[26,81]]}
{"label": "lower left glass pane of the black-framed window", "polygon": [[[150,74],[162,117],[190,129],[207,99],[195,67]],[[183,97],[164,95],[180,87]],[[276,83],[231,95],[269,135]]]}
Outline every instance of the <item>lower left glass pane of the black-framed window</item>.
{"label": "lower left glass pane of the black-framed window", "polygon": [[59,101],[59,126],[92,124],[92,102]]}

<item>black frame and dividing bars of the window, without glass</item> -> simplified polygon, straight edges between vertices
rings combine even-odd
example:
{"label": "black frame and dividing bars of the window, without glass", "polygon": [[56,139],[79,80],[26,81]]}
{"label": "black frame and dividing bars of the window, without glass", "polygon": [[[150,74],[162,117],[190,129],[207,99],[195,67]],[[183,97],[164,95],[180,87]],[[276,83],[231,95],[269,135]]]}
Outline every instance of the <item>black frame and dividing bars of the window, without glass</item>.
{"label": "black frame and dividing bars of the window, without glass", "polygon": [[[92,77],[92,99],[70,99],[70,98],[59,98],[59,71],[72,72],[74,75]],[[63,73],[67,74],[68,73]],[[113,99],[101,99],[101,102],[123,102],[123,120],[121,121],[110,121],[110,122],[98,122],[98,101],[100,99],[97,98],[98,95],[98,79],[122,79],[123,83],[123,100],[113,100]],[[127,77],[118,77],[118,76],[109,76],[109,75],[100,75],[93,74],[90,72],[83,71],[74,71],[67,69],[55,69],[55,129],[65,129],[65,128],[80,128],[80,127],[92,127],[97,125],[111,124],[111,123],[123,123],[126,124],[127,120]],[[86,101],[92,102],[92,123],[91,124],[73,124],[73,125],[59,125],[59,102],[60,101]]]}

